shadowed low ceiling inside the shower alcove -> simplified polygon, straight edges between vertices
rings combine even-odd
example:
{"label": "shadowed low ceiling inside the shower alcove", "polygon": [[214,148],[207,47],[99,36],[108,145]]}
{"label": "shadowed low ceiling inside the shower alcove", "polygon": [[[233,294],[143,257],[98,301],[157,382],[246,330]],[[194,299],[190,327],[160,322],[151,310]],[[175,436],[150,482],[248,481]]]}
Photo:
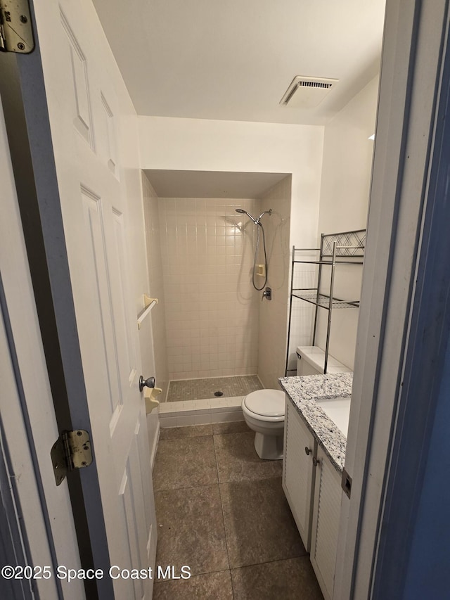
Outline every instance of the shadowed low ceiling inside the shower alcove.
{"label": "shadowed low ceiling inside the shower alcove", "polygon": [[158,198],[262,198],[287,173],[144,171]]}

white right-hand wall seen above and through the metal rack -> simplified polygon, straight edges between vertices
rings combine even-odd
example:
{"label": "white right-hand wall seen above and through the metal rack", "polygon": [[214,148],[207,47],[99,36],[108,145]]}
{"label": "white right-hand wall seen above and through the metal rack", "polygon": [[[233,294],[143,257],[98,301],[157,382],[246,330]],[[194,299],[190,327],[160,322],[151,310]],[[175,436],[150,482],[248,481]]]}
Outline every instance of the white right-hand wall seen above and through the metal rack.
{"label": "white right-hand wall seen above and through the metal rack", "polygon": [[[371,183],[373,141],[378,101],[378,76],[325,127],[323,170],[318,234],[365,229]],[[328,270],[327,270],[328,269]],[[329,267],[321,291],[326,293]],[[359,299],[362,267],[337,267],[335,296]],[[359,309],[334,310],[331,322],[330,354],[353,369]],[[328,312],[319,309],[316,345],[325,347]]]}

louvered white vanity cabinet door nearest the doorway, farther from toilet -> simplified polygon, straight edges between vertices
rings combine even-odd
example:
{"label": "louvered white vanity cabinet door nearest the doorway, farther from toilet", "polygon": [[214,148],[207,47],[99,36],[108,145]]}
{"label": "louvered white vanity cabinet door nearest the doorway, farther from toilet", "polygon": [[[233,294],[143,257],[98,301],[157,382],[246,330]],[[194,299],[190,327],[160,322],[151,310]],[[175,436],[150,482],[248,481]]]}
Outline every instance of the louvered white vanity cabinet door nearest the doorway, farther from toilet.
{"label": "louvered white vanity cabinet door nearest the doorway, farther from toilet", "polygon": [[341,476],[320,447],[317,461],[310,558],[323,596],[330,600],[338,548]]}

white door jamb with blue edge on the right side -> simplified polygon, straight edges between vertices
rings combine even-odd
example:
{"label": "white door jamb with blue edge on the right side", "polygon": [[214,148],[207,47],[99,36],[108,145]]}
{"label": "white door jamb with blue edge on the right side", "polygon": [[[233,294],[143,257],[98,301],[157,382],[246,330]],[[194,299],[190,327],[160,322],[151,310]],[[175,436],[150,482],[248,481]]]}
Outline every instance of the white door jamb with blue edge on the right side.
{"label": "white door jamb with blue edge on the right side", "polygon": [[378,568],[378,537],[385,526],[381,511],[392,445],[400,435],[395,427],[404,401],[404,360],[448,7],[448,0],[387,0],[345,462],[352,497],[342,498],[335,600],[371,597]]}

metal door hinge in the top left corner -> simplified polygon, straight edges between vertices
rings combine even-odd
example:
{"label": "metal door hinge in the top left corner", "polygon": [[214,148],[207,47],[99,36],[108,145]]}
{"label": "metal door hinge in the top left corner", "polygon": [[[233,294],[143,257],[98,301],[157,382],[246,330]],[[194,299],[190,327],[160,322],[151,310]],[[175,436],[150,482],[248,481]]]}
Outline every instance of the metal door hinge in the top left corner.
{"label": "metal door hinge in the top left corner", "polygon": [[0,0],[0,51],[28,54],[34,50],[28,0]]}

